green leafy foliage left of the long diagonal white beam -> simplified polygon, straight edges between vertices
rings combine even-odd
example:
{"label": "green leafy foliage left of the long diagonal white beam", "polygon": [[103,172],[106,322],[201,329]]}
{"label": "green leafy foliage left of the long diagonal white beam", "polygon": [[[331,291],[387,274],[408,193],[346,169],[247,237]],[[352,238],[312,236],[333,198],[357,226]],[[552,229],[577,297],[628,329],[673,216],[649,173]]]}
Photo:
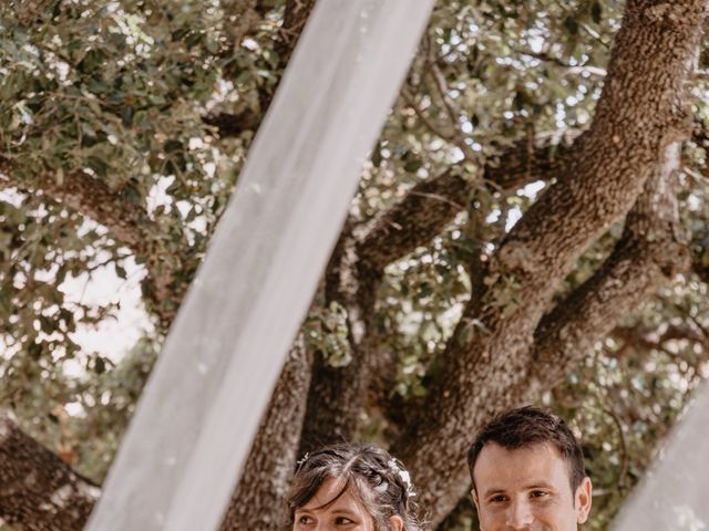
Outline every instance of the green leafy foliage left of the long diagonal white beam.
{"label": "green leafy foliage left of the long diagonal white beam", "polygon": [[[257,107],[255,94],[273,90],[278,74],[269,70],[270,21],[253,31],[249,45],[263,46],[259,53],[234,46],[227,30],[216,1],[0,6],[0,404],[55,449],[65,405],[83,405],[89,417],[102,408],[104,424],[115,417],[111,434],[94,420],[84,423],[93,430],[71,428],[71,460],[94,478],[105,473],[123,429],[100,389],[119,373],[105,353],[82,351],[75,334],[112,320],[119,300],[84,302],[70,287],[106,270],[129,280],[130,259],[152,268],[142,291],[153,324],[179,305],[253,137],[244,131],[217,145],[204,116]],[[236,63],[244,71],[227,77]],[[71,198],[73,175],[147,214],[144,250],[39,191],[50,183]],[[157,299],[151,279],[161,272],[169,296]],[[162,332],[146,348],[156,348]],[[132,408],[136,397],[124,402]]]}

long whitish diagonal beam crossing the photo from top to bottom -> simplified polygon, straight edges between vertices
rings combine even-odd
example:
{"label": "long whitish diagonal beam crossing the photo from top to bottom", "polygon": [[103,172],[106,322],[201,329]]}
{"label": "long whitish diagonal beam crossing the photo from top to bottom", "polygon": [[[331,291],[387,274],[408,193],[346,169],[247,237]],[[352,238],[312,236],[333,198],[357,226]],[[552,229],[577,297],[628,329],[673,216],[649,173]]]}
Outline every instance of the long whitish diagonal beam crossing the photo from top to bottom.
{"label": "long whitish diagonal beam crossing the photo from top to bottom", "polygon": [[217,529],[432,0],[321,0],[92,514]]}

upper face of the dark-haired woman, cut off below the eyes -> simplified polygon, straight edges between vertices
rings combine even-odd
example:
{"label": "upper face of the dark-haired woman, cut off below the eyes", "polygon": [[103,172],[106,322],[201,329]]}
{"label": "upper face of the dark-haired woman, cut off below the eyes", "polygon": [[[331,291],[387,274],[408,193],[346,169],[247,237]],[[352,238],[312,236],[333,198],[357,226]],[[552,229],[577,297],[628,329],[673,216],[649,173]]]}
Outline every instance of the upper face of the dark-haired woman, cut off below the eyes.
{"label": "upper face of the dark-haired woman, cut off below the eyes", "polygon": [[350,489],[329,503],[342,490],[342,482],[330,478],[304,507],[296,510],[294,531],[374,531],[374,521]]}

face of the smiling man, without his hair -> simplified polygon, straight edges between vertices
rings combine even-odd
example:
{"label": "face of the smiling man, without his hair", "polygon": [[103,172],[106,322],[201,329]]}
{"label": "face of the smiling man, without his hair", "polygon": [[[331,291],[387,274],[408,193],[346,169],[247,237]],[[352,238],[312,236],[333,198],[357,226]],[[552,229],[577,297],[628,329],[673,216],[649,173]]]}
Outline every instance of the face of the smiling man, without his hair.
{"label": "face of the smiling man, without his hair", "polygon": [[576,531],[590,510],[590,480],[572,492],[566,460],[549,444],[486,444],[473,470],[481,531]]}

